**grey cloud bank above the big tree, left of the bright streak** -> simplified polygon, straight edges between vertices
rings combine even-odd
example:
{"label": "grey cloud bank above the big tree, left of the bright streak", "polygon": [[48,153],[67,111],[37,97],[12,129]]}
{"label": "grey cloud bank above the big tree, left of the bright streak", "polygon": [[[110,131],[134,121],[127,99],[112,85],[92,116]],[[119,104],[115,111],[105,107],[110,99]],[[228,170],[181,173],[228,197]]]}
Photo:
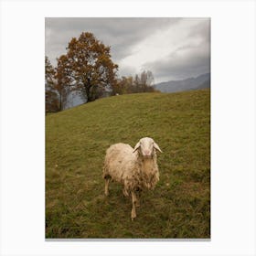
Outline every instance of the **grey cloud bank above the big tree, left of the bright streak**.
{"label": "grey cloud bank above the big tree, left of the bright streak", "polygon": [[[115,61],[132,54],[133,46],[155,30],[175,25],[180,18],[46,18],[46,29],[50,29],[50,39],[46,49],[50,59],[55,53],[66,52],[71,37],[79,37],[81,32],[92,32],[105,45],[111,46]],[[55,46],[54,48],[52,47]],[[59,48],[59,50],[56,50]]]}

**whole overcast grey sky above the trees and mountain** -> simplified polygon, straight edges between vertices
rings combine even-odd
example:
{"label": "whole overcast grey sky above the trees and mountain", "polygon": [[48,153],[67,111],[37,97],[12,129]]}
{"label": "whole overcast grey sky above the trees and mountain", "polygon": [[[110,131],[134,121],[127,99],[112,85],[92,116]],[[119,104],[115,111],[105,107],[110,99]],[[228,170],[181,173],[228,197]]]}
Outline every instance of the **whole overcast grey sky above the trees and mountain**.
{"label": "whole overcast grey sky above the trees and mountain", "polygon": [[53,66],[72,37],[91,32],[111,46],[119,76],[151,70],[155,83],[209,72],[209,18],[46,18],[46,55]]}

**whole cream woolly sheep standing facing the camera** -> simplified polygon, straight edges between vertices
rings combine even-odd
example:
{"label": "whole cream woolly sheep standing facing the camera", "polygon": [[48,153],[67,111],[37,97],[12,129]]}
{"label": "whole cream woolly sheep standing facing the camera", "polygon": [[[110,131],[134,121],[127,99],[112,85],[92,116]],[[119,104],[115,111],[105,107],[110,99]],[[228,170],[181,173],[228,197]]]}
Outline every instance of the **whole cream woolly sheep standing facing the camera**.
{"label": "whole cream woolly sheep standing facing the camera", "polygon": [[132,196],[131,219],[136,218],[136,207],[139,200],[136,192],[145,188],[154,189],[159,181],[156,150],[162,153],[152,138],[144,137],[134,146],[129,144],[112,144],[106,151],[103,165],[105,195],[109,195],[111,180],[123,184],[123,195]]}

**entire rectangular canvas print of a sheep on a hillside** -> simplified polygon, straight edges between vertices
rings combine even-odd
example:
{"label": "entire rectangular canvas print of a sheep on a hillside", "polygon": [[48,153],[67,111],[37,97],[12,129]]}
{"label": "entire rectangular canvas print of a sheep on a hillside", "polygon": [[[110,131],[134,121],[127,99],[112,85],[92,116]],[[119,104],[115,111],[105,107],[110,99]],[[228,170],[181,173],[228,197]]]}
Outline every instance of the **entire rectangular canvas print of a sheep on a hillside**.
{"label": "entire rectangular canvas print of a sheep on a hillside", "polygon": [[210,18],[46,17],[45,238],[210,239]]}

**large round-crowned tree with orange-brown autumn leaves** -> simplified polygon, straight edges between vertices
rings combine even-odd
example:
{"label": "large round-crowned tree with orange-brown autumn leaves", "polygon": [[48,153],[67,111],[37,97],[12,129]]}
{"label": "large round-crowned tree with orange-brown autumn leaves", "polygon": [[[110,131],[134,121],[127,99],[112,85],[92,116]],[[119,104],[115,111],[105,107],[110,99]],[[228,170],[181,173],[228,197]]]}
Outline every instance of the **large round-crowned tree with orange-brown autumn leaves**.
{"label": "large round-crowned tree with orange-brown autumn leaves", "polygon": [[67,61],[70,85],[80,91],[87,101],[112,85],[118,66],[112,62],[110,47],[106,47],[92,33],[73,37],[68,46]]}

